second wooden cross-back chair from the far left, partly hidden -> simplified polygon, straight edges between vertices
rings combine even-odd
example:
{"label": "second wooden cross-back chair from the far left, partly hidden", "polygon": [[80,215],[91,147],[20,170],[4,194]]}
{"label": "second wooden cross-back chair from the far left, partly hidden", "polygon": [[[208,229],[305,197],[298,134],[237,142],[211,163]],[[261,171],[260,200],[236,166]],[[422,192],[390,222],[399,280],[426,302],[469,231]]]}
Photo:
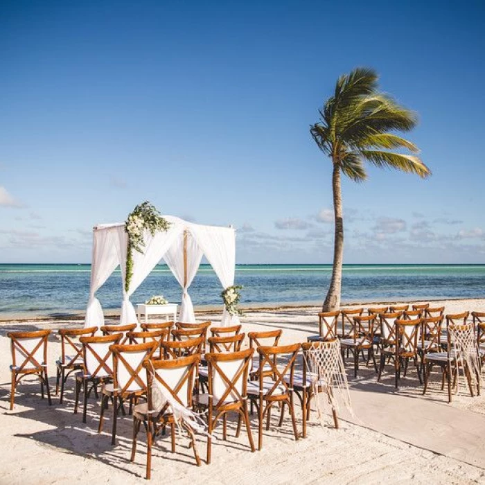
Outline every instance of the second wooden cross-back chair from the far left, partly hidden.
{"label": "second wooden cross-back chair from the far left, partly hidden", "polygon": [[96,333],[98,327],[89,328],[60,328],[59,335],[61,337],[61,355],[59,360],[55,362],[57,367],[55,378],[55,394],[59,393],[60,382],[60,398],[59,404],[62,404],[64,398],[64,385],[67,378],[73,371],[82,369],[82,344],[80,337],[83,335],[90,335],[91,337]]}

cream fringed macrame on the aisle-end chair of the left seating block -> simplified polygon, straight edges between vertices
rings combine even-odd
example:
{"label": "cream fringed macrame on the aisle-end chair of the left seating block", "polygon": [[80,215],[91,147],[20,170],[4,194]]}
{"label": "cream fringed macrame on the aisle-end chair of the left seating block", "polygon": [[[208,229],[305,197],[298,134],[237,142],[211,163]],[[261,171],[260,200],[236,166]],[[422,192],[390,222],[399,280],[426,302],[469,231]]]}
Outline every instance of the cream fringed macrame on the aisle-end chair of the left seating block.
{"label": "cream fringed macrame on the aisle-end chair of the left seating block", "polygon": [[312,380],[312,392],[315,398],[317,416],[324,425],[324,415],[330,407],[339,409],[339,401],[344,403],[346,409],[353,417],[349,383],[340,352],[340,342],[313,342],[308,351],[303,353],[308,369],[307,376]]}

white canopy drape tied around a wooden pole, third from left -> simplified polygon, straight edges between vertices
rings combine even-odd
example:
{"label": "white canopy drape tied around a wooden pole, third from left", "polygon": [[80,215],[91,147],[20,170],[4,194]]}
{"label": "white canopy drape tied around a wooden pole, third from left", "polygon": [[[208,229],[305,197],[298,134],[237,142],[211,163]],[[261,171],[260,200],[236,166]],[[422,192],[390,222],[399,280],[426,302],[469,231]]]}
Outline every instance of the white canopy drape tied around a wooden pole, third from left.
{"label": "white canopy drape tied around a wooden pole, third from left", "polygon": [[188,287],[191,285],[202,260],[202,249],[188,231],[182,231],[164,256],[170,271],[182,286],[182,304],[179,321],[195,323],[194,307]]}

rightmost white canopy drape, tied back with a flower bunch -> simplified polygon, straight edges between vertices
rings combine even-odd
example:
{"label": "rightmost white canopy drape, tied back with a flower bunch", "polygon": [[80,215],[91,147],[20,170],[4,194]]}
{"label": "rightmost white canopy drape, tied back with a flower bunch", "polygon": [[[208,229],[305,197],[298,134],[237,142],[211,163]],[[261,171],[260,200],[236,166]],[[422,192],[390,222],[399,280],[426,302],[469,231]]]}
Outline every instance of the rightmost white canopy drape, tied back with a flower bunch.
{"label": "rightmost white canopy drape, tied back with a flower bunch", "polygon": [[[218,275],[222,288],[234,284],[236,265],[236,234],[231,227],[209,227],[191,224],[189,231],[197,240],[207,261]],[[221,325],[238,325],[238,315],[229,315],[225,306],[222,312]]]}

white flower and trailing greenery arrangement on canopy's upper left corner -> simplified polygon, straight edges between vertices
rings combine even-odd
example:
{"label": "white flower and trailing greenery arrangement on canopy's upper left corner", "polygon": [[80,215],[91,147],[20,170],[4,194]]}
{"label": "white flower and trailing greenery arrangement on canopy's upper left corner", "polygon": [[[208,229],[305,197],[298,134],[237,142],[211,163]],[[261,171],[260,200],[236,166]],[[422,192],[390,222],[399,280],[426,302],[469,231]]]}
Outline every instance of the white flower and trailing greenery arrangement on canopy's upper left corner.
{"label": "white flower and trailing greenery arrangement on canopy's upper left corner", "polygon": [[143,254],[145,241],[143,240],[143,231],[148,229],[152,236],[157,231],[168,231],[170,222],[164,219],[158,209],[145,201],[137,205],[133,212],[128,215],[125,222],[125,232],[128,236],[126,251],[126,274],[125,274],[125,291],[130,290],[130,282],[133,276],[133,251]]}

